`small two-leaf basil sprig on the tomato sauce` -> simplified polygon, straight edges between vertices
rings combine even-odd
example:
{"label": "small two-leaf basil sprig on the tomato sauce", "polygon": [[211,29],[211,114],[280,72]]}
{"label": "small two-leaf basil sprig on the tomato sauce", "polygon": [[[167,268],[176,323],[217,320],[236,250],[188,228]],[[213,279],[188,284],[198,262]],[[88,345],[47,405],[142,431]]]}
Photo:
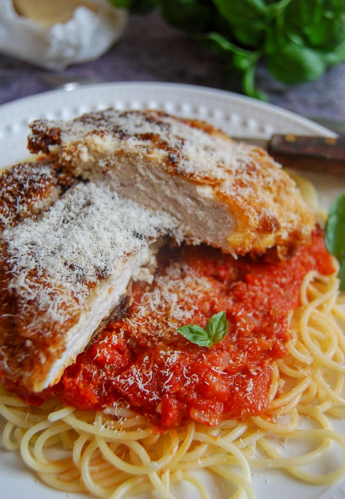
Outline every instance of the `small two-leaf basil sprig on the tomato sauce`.
{"label": "small two-leaf basil sprig on the tomato sauce", "polygon": [[208,319],[205,329],[197,324],[187,324],[177,328],[177,331],[192,343],[210,348],[221,341],[228,329],[226,314],[218,312]]}

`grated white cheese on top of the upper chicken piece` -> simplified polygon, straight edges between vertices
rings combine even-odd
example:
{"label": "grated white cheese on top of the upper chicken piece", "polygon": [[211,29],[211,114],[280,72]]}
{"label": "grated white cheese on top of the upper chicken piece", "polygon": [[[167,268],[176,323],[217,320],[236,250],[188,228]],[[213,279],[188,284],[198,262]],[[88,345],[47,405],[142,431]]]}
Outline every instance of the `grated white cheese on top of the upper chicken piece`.
{"label": "grated white cheese on top of the upper chicken piece", "polygon": [[[235,171],[249,161],[247,146],[230,141],[221,133],[209,133],[207,129],[190,126],[178,118],[155,111],[144,114],[106,109],[88,113],[69,123],[54,121],[54,126],[61,129],[62,143],[80,144],[79,157],[85,162],[89,160],[90,151],[80,139],[91,134],[99,151],[104,153],[108,149],[113,151],[117,140],[124,150],[144,151],[148,138],[159,136],[162,147],[155,154],[161,155],[161,161],[169,157],[170,161],[176,161],[179,172],[197,177],[206,175],[223,179],[226,178],[225,172]],[[96,126],[97,132],[94,133]]]}

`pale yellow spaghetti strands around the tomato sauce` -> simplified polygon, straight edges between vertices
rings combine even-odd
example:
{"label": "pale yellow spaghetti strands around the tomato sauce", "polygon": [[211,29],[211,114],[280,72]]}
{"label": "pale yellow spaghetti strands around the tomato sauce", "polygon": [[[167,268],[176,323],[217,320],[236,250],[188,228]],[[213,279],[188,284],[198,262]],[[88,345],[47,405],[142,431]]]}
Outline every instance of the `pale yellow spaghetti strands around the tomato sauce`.
{"label": "pale yellow spaghetti strands around the tomato sauce", "polygon": [[[312,484],[342,478],[345,458],[327,473],[310,469],[335,443],[345,454],[345,438],[331,426],[331,417],[345,417],[340,325],[345,313],[334,265],[332,275],[311,270],[303,280],[300,306],[290,317],[287,353],[273,363],[269,406],[261,414],[215,427],[190,421],[162,430],[125,404],[114,411],[82,411],[52,398],[32,407],[1,388],[6,449],[20,449],[25,463],[51,487],[112,499],[152,490],[172,498],[172,484],[180,481],[210,498],[194,474],[200,469],[231,484],[234,498],[255,497],[251,473],[256,468],[285,470]],[[294,455],[288,449],[297,440],[304,450]]]}

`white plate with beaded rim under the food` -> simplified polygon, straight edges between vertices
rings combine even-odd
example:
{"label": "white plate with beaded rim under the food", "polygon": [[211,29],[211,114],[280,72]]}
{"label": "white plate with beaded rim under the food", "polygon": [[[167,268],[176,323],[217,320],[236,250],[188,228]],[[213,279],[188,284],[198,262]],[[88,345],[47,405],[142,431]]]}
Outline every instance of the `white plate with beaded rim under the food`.
{"label": "white plate with beaded rim under the food", "polygon": [[[170,83],[107,83],[67,92],[58,90],[17,100],[0,107],[0,168],[28,156],[28,124],[39,118],[70,119],[81,113],[114,106],[118,109],[161,109],[185,117],[209,121],[230,135],[269,137],[273,132],[332,135],[329,130],[294,113],[225,91]],[[313,176],[321,203],[345,192],[345,178]],[[337,423],[345,434],[345,421]],[[1,444],[0,444],[1,445]],[[90,499],[48,489],[25,469],[15,453],[0,447],[2,499]],[[280,473],[259,472],[253,476],[257,499],[345,499],[345,479],[333,487],[316,487]],[[214,496],[226,497],[220,494]],[[180,494],[180,497],[185,497]],[[191,496],[189,495],[189,498]]]}

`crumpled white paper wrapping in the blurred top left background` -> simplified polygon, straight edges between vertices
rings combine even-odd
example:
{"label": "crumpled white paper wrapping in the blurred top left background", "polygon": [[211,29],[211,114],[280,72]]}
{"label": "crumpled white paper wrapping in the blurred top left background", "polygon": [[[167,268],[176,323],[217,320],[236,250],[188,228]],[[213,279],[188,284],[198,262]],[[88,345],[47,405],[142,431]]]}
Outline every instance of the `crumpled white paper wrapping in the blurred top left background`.
{"label": "crumpled white paper wrapping in the blurred top left background", "polygon": [[107,0],[91,1],[94,9],[78,6],[67,22],[45,26],[0,0],[0,52],[53,71],[97,59],[123,34],[127,13]]}

